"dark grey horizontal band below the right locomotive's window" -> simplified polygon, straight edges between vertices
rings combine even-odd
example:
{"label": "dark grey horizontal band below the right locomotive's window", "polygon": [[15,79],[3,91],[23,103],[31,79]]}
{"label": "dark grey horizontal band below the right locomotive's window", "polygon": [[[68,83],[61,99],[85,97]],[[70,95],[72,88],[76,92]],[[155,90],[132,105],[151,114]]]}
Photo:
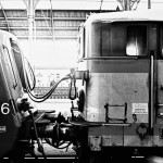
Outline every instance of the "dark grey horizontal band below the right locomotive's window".
{"label": "dark grey horizontal band below the right locomotive's window", "polygon": [[90,73],[149,73],[150,60],[85,60]]}

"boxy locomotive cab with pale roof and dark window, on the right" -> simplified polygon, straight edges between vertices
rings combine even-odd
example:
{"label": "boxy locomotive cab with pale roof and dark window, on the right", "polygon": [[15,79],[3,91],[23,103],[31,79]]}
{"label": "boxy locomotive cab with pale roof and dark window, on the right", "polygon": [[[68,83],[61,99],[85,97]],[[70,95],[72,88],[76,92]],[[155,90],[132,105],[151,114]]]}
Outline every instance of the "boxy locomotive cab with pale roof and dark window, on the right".
{"label": "boxy locomotive cab with pale roof and dark window, on the right", "polygon": [[160,153],[163,20],[156,15],[100,13],[80,27],[78,71],[89,72],[82,89],[91,151]]}

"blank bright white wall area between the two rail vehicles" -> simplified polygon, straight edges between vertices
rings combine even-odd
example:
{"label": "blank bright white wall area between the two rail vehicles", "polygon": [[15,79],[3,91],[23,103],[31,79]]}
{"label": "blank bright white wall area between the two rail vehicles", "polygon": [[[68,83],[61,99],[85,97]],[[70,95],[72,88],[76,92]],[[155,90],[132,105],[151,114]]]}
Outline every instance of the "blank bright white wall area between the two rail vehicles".
{"label": "blank bright white wall area between the two rail vehicles", "polygon": [[63,70],[76,66],[76,40],[21,40],[24,55],[35,68]]}

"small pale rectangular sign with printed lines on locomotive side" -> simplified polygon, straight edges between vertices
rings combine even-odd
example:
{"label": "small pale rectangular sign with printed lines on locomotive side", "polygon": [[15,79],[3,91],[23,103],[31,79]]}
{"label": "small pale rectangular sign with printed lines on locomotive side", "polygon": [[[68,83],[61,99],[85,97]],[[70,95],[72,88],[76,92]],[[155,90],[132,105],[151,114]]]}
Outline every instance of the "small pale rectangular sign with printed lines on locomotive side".
{"label": "small pale rectangular sign with printed lines on locomotive side", "polygon": [[133,103],[133,114],[148,114],[148,103]]}

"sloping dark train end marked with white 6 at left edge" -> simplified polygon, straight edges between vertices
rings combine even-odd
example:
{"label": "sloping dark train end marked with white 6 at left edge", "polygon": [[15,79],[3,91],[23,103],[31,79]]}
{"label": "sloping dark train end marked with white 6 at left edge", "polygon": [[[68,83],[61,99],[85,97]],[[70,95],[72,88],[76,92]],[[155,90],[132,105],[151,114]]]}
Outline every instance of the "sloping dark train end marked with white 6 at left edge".
{"label": "sloping dark train end marked with white 6 at left edge", "polygon": [[21,127],[16,101],[23,98],[23,87],[15,64],[12,42],[17,39],[0,32],[0,155],[12,149]]}

